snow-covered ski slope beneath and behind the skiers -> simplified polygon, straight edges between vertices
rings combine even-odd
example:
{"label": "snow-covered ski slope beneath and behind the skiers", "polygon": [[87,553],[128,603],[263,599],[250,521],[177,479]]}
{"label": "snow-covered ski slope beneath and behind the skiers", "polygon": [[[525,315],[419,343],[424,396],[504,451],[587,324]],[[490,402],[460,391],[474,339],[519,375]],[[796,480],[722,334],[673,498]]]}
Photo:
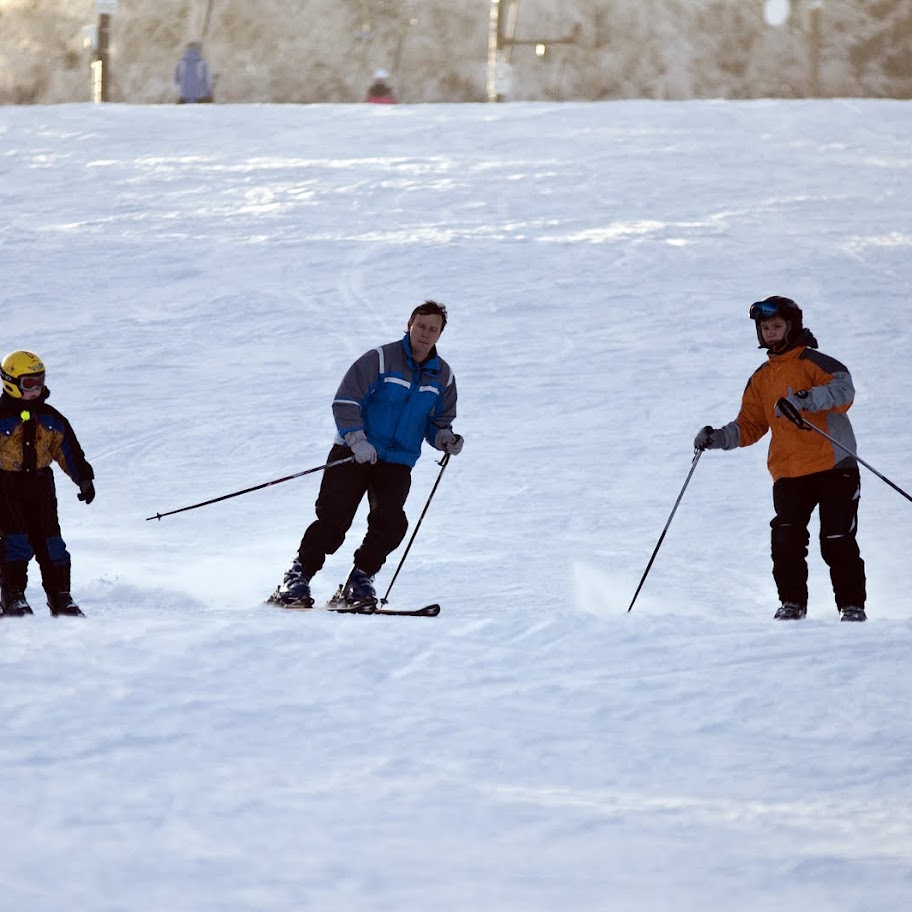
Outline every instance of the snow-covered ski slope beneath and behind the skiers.
{"label": "snow-covered ski slope beneath and behind the skiers", "polygon": [[[759,297],[912,489],[910,131],[876,101],[0,109],[3,349],[98,489],[57,473],[86,619],[33,567],[0,621],[0,912],[906,909],[912,504],[863,471],[867,624],[813,537],[808,619],[774,623],[765,443],[706,453],[626,608]],[[343,371],[426,297],[466,446],[390,601],[438,618],[262,604],[317,475],[146,520],[320,465]]]}

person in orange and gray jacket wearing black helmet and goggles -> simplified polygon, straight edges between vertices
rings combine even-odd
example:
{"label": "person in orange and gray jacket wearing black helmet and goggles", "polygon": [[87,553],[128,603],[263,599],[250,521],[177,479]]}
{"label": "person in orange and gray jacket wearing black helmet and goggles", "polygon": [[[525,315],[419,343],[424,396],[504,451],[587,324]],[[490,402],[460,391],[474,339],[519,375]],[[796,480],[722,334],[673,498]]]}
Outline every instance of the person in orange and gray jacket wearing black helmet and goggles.
{"label": "person in orange and gray jacket wearing black helmet and goggles", "polygon": [[[864,561],[855,537],[861,478],[850,455],[856,446],[847,414],[855,398],[852,377],[844,364],[817,351],[817,340],[791,298],[773,295],[758,301],[751,305],[750,318],[768,359],[748,380],[738,417],[721,428],[701,428],[694,447],[733,450],[771,431],[767,466],[776,511],[770,523],[771,551],[782,603],[776,619],[797,620],[807,614],[808,523],[817,508],[820,554],[830,568],[840,618],[867,620]],[[790,420],[782,399],[804,422],[846,449]]]}

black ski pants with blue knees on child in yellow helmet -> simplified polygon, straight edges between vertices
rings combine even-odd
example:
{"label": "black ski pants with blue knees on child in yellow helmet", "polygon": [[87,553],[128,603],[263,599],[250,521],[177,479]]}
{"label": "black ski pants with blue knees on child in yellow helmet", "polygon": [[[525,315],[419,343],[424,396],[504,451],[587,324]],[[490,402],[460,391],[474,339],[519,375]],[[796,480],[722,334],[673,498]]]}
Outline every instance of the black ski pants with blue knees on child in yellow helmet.
{"label": "black ski pants with blue knees on child in yellow helmet", "polygon": [[69,590],[70,555],[60,536],[57,490],[50,468],[0,471],[0,585],[3,603],[24,593],[34,557],[48,598]]}

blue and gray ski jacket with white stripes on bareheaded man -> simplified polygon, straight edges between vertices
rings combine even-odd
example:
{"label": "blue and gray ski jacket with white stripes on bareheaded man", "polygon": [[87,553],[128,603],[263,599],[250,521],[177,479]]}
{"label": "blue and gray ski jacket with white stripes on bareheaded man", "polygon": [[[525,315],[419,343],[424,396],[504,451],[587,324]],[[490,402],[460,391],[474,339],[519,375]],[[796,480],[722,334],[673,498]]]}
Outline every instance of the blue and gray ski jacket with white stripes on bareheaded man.
{"label": "blue and gray ski jacket with white stripes on bareheaded man", "polygon": [[439,430],[452,430],[456,378],[436,347],[419,364],[406,333],[401,342],[365,352],[352,364],[333,401],[333,418],[336,443],[363,430],[380,459],[414,466],[422,440],[434,446]]}

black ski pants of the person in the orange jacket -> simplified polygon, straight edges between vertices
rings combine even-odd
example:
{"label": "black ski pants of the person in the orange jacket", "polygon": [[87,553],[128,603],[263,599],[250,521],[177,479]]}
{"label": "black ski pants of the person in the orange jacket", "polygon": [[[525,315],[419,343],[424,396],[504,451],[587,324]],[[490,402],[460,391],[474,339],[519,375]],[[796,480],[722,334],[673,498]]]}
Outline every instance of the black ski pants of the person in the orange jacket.
{"label": "black ski pants of the person in the orange jacket", "polygon": [[836,607],[864,608],[864,561],[855,540],[861,477],[857,468],[829,469],[773,485],[773,578],[783,602],[807,605],[808,523],[820,518],[820,554],[830,568]]}

